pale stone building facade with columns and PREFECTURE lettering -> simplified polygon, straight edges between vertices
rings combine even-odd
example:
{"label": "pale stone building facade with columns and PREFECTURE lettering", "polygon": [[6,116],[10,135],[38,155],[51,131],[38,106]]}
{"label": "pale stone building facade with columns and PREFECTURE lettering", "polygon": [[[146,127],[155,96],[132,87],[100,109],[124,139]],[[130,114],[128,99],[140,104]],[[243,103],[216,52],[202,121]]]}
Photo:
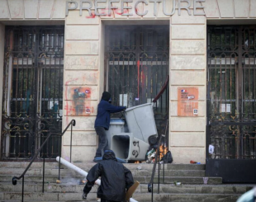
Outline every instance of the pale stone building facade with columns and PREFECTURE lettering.
{"label": "pale stone building facade with columns and PREFECTURE lettering", "polygon": [[[69,2],[73,3],[67,3],[65,0],[0,0],[2,81],[6,77],[3,69],[7,26],[64,26],[62,128],[64,129],[70,120],[76,120],[76,126],[73,127],[73,161],[90,161],[97,148],[97,135],[93,128],[97,103],[105,90],[106,27],[167,25],[169,26],[169,149],[173,153],[175,163],[188,163],[190,160],[205,163],[206,147],[208,149],[208,145],[206,146],[206,29],[208,25],[256,24],[256,0],[176,1],[175,10],[173,10],[173,0],[150,2],[93,0],[83,1],[83,9],[80,9],[80,1]],[[77,7],[74,2],[77,2]],[[92,7],[89,9],[91,15],[86,9],[90,6],[88,2],[92,2]],[[95,3],[97,3],[97,11],[95,11]],[[121,11],[122,3],[124,10],[128,12]],[[112,9],[108,9],[110,5]],[[113,9],[114,7],[117,8]],[[127,9],[127,7],[132,8]],[[129,16],[126,15],[127,13]],[[2,85],[3,83],[0,82],[1,104]],[[71,96],[73,87],[90,89],[91,95],[86,99],[91,111],[89,115],[73,114],[75,108]],[[180,87],[198,88],[197,116],[178,115]],[[66,156],[69,156],[69,142],[70,134],[65,134],[62,150]]]}

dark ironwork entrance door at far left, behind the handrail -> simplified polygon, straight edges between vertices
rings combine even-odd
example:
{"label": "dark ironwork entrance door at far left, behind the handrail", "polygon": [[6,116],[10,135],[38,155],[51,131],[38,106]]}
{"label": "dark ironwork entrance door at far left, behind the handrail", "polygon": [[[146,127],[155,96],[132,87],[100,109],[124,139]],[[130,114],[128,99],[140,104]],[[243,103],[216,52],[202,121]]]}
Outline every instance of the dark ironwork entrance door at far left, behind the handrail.
{"label": "dark ironwork entrance door at far left, behind the handrail", "polygon": [[7,26],[2,105],[2,159],[59,151],[62,129],[64,27]]}

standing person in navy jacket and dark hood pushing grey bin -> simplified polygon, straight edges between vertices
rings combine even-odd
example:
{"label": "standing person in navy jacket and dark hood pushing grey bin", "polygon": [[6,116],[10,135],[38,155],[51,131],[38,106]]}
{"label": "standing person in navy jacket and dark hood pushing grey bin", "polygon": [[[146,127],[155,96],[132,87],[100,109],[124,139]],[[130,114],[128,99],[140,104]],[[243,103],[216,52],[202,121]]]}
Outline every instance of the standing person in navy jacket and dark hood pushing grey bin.
{"label": "standing person in navy jacket and dark hood pushing grey bin", "polygon": [[111,94],[109,92],[103,92],[102,100],[97,106],[97,117],[94,124],[94,128],[99,139],[95,157],[102,157],[104,151],[109,149],[106,130],[109,129],[110,114],[119,112],[121,110],[126,110],[126,106],[112,106],[110,101]]}

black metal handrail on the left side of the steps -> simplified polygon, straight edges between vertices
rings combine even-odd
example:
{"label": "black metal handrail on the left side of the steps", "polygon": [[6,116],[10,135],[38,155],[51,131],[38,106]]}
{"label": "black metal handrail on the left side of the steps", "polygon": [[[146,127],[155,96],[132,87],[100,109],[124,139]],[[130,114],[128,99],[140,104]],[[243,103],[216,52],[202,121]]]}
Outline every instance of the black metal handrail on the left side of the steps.
{"label": "black metal handrail on the left side of the steps", "polygon": [[[70,123],[67,125],[67,127],[64,129],[64,131],[62,132],[62,134],[59,135],[60,137],[60,141],[59,141],[59,145],[60,145],[60,149],[59,149],[59,156],[61,155],[61,137],[64,135],[64,133],[67,131],[67,129],[69,129],[69,126],[71,125],[71,144],[70,144],[70,162],[71,162],[71,150],[72,150],[72,127],[75,126],[75,120],[71,120]],[[42,148],[44,148],[45,143],[47,143],[47,141],[50,139],[50,136],[52,134],[56,134],[56,133],[50,133],[48,134],[47,138],[45,139],[45,142],[41,144],[40,148],[37,150],[36,154],[34,155],[34,157],[31,159],[31,162],[28,164],[28,166],[26,167],[25,171],[23,171],[23,173],[21,174],[21,176],[13,176],[12,177],[12,185],[16,186],[17,185],[17,180],[21,180],[22,178],[22,196],[21,196],[21,202],[23,202],[24,200],[24,176],[26,174],[26,171],[28,171],[28,169],[31,167],[31,164],[35,161],[37,155],[40,153],[40,151],[42,150]],[[60,161],[59,161],[60,162]],[[60,167],[59,167],[60,169]],[[60,173],[60,170],[59,170]],[[43,162],[43,188],[42,188],[42,192],[44,193],[45,191],[45,157],[44,157],[44,162]]]}

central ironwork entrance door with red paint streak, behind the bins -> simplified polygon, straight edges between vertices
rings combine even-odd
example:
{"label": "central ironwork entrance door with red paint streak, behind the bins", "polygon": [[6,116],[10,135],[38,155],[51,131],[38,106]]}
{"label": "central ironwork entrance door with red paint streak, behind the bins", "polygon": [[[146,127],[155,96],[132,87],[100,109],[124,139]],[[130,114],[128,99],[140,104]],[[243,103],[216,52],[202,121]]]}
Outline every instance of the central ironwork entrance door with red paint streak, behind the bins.
{"label": "central ironwork entrance door with red paint streak, behind the bins", "polygon": [[[168,26],[107,26],[106,87],[116,106],[152,102],[168,76]],[[154,105],[158,129],[168,117],[168,89]]]}

